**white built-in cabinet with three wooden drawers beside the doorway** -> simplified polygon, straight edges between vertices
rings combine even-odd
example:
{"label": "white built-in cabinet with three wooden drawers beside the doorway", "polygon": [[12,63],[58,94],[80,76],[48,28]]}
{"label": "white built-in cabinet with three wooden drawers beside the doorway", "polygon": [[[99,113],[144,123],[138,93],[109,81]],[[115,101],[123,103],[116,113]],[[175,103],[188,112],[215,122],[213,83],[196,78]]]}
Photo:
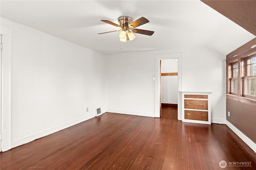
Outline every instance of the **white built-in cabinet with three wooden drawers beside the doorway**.
{"label": "white built-in cabinet with three wooden drawers beside the doorway", "polygon": [[209,92],[182,92],[182,121],[211,124]]}

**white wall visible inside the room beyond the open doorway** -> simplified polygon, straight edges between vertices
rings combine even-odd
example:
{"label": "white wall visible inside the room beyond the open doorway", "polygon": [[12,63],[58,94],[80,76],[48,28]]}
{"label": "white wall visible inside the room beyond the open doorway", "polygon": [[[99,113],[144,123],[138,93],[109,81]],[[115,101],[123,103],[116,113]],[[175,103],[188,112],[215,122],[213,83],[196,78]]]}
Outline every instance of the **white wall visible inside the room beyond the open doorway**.
{"label": "white wall visible inside the room beyond the open doorway", "polygon": [[[178,72],[178,60],[161,60],[161,72]],[[161,103],[178,104],[178,76],[161,76]]]}

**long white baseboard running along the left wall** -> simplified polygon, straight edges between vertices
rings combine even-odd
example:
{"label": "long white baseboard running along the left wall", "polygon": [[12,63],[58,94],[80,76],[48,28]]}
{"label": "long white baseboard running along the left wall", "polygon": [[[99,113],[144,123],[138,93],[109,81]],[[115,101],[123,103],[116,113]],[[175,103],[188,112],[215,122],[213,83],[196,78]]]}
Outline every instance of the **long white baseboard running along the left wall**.
{"label": "long white baseboard running along the left wall", "polygon": [[66,128],[70,127],[70,126],[73,126],[73,125],[76,125],[76,124],[81,123],[83,121],[86,121],[88,119],[91,119],[91,118],[93,118],[95,116],[96,115],[87,115],[87,116],[84,116],[84,117],[80,117],[78,119],[75,119],[73,121],[64,123],[62,125],[58,125],[58,126],[46,129],[44,131],[41,131],[41,132],[38,132],[38,133],[34,133],[32,135],[28,135],[28,136],[22,137],[20,139],[14,140],[14,141],[12,141],[12,148],[18,147],[18,146],[23,145],[25,143],[29,143],[29,142],[34,141],[36,139],[39,139],[41,137],[45,137],[45,136],[50,135],[52,133],[61,131],[61,130],[66,129]]}

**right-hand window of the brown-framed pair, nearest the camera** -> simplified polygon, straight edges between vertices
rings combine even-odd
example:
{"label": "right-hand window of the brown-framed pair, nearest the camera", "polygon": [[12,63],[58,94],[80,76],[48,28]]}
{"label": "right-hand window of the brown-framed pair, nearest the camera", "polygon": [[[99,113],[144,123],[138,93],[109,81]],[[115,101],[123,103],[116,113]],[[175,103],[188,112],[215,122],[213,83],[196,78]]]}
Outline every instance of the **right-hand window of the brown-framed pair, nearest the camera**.
{"label": "right-hand window of the brown-framed pair, nearest the camera", "polygon": [[243,96],[255,99],[255,80],[256,80],[256,55],[244,59],[244,92]]}

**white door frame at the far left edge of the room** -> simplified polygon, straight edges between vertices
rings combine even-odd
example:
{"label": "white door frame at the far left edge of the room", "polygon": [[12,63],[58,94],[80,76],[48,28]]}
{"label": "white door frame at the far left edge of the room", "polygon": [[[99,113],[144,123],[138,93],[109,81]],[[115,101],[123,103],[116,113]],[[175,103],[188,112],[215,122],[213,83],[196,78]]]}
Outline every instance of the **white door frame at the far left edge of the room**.
{"label": "white door frame at the far left edge of the room", "polygon": [[3,51],[1,65],[1,149],[12,149],[12,28],[0,25]]}

